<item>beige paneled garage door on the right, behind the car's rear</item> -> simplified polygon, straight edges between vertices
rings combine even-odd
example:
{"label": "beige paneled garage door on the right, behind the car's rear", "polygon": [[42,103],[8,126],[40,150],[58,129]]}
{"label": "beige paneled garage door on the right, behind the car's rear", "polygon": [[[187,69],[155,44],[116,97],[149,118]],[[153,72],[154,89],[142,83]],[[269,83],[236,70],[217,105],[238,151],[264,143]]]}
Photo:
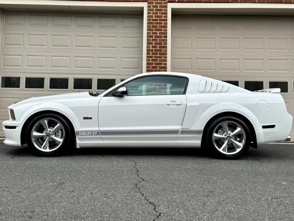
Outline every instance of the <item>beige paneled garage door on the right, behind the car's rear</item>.
{"label": "beige paneled garage door on the right, behind the car's rear", "polygon": [[172,71],[249,90],[280,87],[294,115],[294,18],[174,15]]}

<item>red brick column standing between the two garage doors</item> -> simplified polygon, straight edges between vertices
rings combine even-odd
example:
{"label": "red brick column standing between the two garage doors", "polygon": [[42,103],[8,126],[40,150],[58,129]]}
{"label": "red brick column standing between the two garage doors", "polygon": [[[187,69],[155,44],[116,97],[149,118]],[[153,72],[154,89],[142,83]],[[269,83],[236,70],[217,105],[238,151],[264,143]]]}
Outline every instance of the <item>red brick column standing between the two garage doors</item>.
{"label": "red brick column standing between the two garage doors", "polygon": [[147,72],[167,71],[167,0],[148,0]]}

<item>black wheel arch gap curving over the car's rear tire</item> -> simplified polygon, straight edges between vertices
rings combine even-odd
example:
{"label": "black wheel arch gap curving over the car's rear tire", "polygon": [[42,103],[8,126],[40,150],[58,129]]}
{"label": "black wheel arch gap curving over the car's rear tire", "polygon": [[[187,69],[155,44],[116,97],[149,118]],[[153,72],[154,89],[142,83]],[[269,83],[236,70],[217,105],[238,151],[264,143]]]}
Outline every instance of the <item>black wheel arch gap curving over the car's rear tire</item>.
{"label": "black wheel arch gap curving over the car's rear tire", "polygon": [[[253,148],[257,148],[257,141],[256,141],[256,131],[254,129],[254,126],[253,124],[251,123],[251,121],[245,117],[244,115],[240,114],[240,113],[237,113],[237,112],[233,112],[233,111],[225,111],[225,112],[221,112],[221,113],[218,113],[216,115],[214,115],[213,117],[211,117],[207,123],[205,124],[204,126],[204,129],[203,129],[203,134],[207,133],[207,129],[209,127],[209,125],[216,119],[220,118],[220,117],[223,117],[223,116],[234,116],[236,118],[239,118],[241,119],[242,121],[245,122],[246,126],[248,127],[249,129],[249,133],[250,133],[250,146],[253,147]],[[252,133],[253,132],[253,133]],[[204,140],[202,139],[201,140],[201,145],[203,145],[203,142]]]}

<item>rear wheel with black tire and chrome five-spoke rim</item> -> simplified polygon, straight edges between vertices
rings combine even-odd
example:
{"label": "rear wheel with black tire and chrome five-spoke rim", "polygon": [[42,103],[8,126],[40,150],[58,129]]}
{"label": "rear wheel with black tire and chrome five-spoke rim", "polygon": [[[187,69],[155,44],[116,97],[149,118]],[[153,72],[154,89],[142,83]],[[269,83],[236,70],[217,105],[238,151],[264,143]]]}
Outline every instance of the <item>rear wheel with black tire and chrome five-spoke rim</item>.
{"label": "rear wheel with black tire and chrome five-spoke rim", "polygon": [[215,119],[203,135],[205,148],[219,159],[238,159],[250,146],[250,133],[245,122],[234,116]]}

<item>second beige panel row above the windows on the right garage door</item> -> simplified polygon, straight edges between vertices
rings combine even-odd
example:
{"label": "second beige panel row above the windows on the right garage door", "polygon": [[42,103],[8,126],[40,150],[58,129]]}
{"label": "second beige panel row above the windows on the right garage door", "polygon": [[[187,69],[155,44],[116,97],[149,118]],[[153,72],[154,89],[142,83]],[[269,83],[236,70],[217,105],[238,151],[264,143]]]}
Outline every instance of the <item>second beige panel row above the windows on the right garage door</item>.
{"label": "second beige panel row above the windows on the right garage door", "polygon": [[[268,55],[292,55],[294,40],[292,36],[284,37],[264,37],[262,35],[241,36],[240,33],[234,34],[198,34],[189,36],[191,33],[173,34],[172,50],[191,50],[201,53],[211,53],[212,51],[225,51],[228,53],[247,54],[254,53]],[[212,37],[212,35],[216,35]],[[240,35],[240,36],[238,36]],[[183,37],[185,36],[185,37]],[[232,37],[234,36],[234,37]],[[194,52],[195,53],[195,52]]]}

